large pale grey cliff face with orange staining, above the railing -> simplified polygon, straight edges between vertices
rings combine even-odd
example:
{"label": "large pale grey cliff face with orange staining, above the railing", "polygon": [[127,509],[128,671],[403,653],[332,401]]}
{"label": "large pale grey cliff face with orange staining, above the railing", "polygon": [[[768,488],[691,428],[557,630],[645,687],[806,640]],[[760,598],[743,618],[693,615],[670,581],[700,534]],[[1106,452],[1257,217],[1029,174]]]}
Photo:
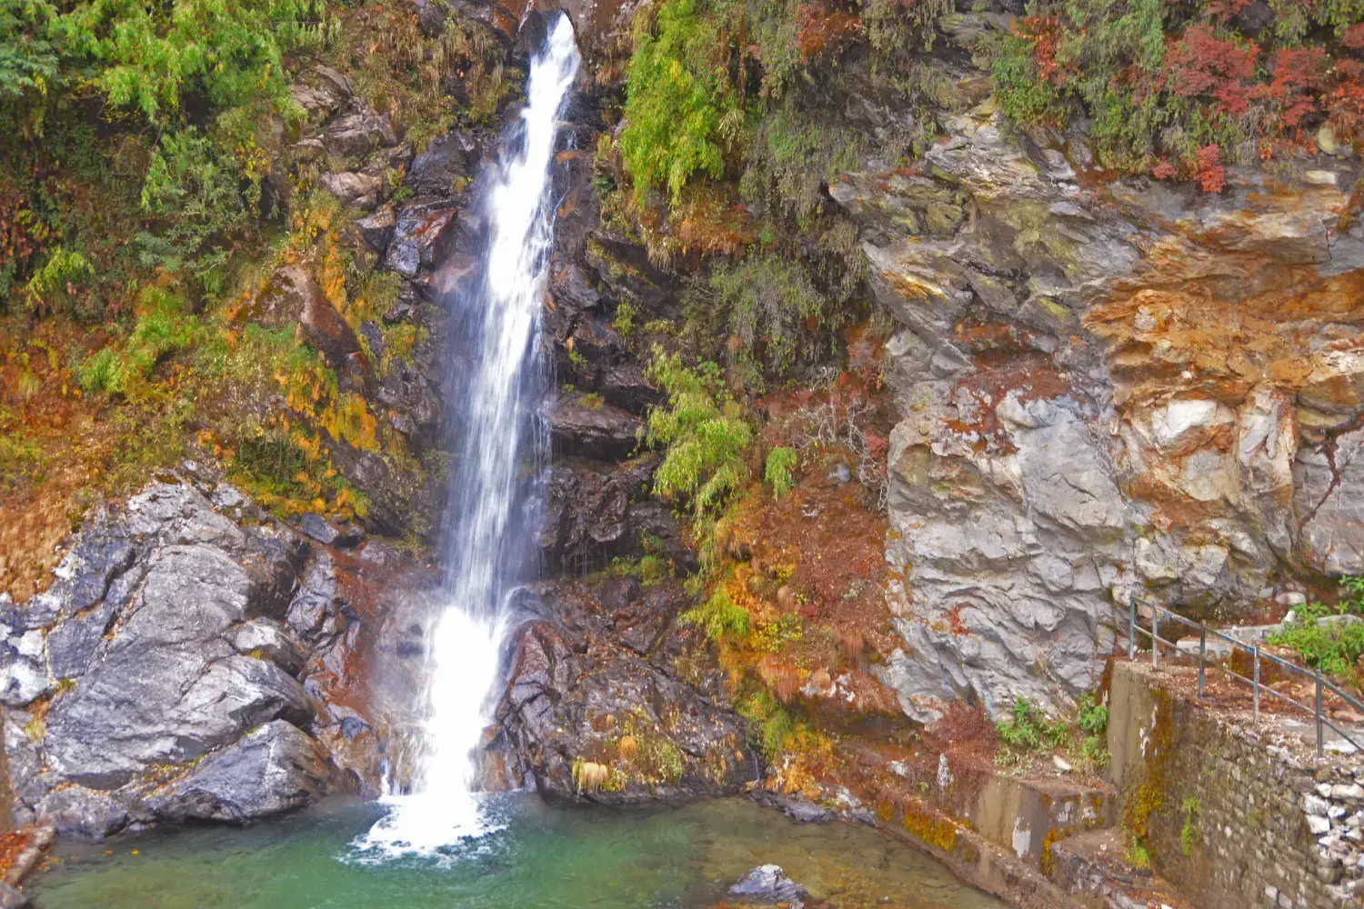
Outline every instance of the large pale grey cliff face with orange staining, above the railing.
{"label": "large pale grey cliff face with orange staining, above the railing", "polygon": [[1364,571],[1353,170],[1203,195],[1095,183],[1082,135],[989,101],[943,125],[914,166],[829,184],[902,326],[883,679],[904,710],[1065,706],[1132,593],[1234,612]]}

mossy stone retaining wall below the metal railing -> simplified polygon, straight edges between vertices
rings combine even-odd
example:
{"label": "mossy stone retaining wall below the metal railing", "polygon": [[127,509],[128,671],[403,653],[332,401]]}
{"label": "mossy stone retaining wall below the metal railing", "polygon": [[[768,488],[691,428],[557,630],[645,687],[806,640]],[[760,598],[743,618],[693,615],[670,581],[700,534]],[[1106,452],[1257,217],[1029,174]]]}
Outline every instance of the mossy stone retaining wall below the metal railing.
{"label": "mossy stone retaining wall below the metal railing", "polygon": [[1203,909],[1364,905],[1364,767],[1275,744],[1273,722],[1241,728],[1178,694],[1192,669],[1170,672],[1113,671],[1110,773],[1128,841]]}

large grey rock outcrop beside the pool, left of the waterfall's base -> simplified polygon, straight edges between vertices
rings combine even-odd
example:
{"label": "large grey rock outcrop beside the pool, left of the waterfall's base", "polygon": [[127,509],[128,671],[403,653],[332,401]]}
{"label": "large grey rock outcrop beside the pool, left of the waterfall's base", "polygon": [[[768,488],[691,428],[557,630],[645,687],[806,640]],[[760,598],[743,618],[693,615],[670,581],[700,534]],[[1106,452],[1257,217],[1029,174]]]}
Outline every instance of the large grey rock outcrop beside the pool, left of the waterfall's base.
{"label": "large grey rock outcrop beside the pool, left of the waterfall's base", "polygon": [[93,518],[46,593],[0,604],[15,819],[102,838],[376,785],[375,736],[345,732],[372,725],[352,676],[379,623],[341,557],[225,484],[158,482]]}

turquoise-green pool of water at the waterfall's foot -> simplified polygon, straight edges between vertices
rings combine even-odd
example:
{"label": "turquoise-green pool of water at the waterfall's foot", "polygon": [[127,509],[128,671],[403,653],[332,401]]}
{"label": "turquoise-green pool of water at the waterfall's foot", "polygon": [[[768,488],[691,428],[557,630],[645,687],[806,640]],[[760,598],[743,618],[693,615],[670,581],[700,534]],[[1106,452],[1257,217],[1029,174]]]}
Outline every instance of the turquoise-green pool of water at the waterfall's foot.
{"label": "turquoise-green pool of water at the waterfall's foot", "polygon": [[382,808],[331,801],[246,829],[59,846],[26,891],[41,909],[700,909],[775,863],[836,909],[1003,905],[870,829],[797,825],[742,799],[608,811],[510,796],[496,811],[505,830],[441,861],[364,861],[349,844]]}

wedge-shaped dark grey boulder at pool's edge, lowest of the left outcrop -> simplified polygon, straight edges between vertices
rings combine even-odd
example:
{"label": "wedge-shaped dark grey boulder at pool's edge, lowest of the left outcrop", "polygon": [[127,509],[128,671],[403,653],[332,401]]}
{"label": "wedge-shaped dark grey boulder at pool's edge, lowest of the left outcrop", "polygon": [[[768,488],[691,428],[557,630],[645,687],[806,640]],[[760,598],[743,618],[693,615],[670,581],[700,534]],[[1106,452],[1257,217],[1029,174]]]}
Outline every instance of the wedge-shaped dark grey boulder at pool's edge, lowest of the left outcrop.
{"label": "wedge-shaped dark grey boulder at pool's edge, lowest of the left outcrop", "polygon": [[243,823],[301,808],[326,790],[330,777],[322,745],[276,720],[149,796],[146,808],[165,820]]}

